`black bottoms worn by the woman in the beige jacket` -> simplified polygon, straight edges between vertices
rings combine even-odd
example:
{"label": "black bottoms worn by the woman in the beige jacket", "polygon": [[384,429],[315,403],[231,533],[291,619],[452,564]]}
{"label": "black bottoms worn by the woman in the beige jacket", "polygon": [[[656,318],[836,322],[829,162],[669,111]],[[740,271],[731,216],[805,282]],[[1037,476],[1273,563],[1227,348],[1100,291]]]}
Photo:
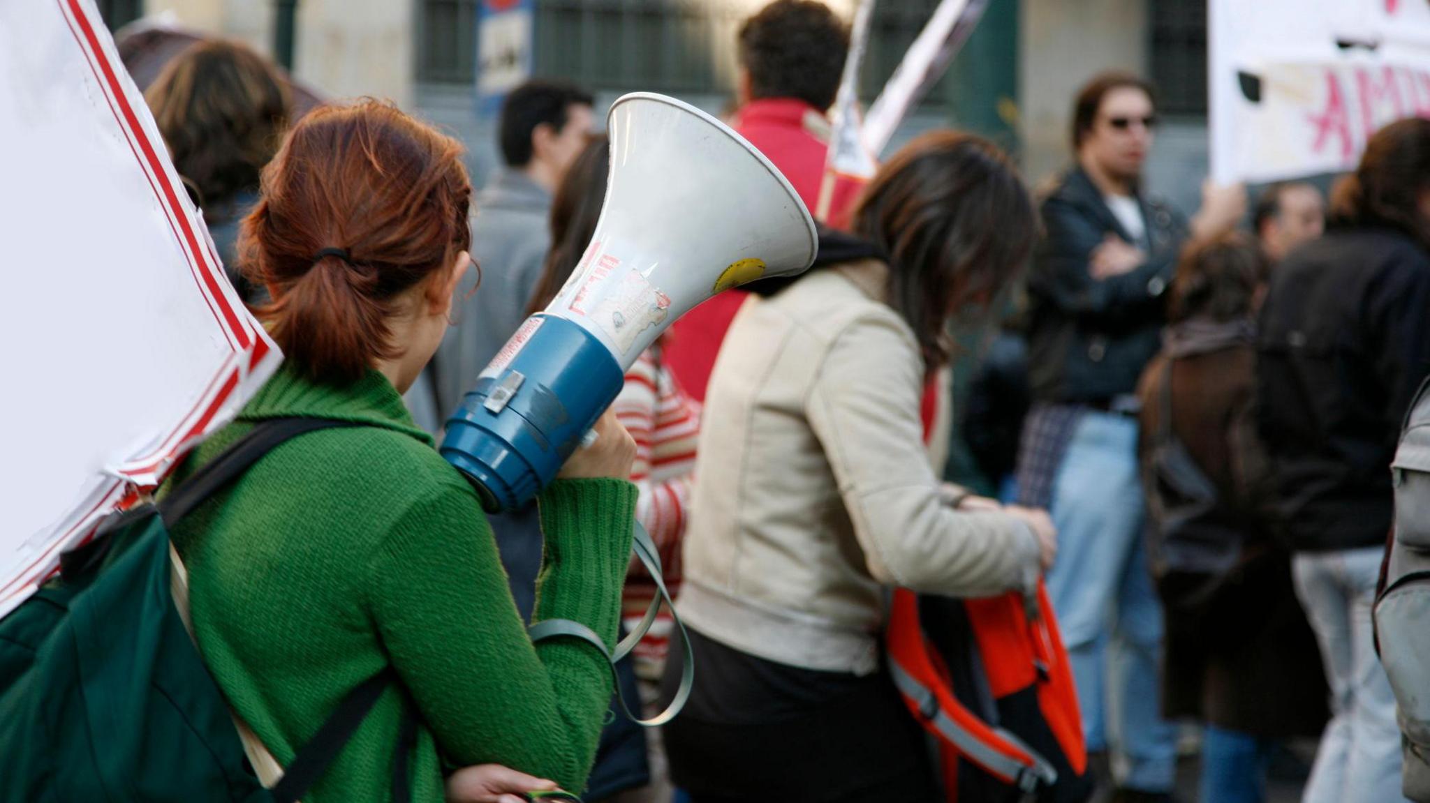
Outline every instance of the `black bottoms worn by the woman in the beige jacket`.
{"label": "black bottoms worn by the woman in the beige jacket", "polygon": [[[691,646],[695,689],[664,730],[671,779],[694,803],[940,800],[930,740],[885,672],[799,669],[695,630]],[[679,682],[678,654],[662,704]]]}

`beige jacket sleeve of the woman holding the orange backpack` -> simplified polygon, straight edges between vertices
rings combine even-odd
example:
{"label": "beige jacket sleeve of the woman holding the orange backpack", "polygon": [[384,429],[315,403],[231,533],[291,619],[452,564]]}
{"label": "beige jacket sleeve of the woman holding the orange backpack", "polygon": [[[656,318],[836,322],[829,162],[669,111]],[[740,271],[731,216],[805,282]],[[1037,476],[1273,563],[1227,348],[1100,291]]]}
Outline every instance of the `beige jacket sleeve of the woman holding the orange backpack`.
{"label": "beige jacket sleeve of the woman holding the orange backpack", "polygon": [[807,400],[869,574],[950,596],[1027,592],[1038,576],[1032,530],[942,503],[922,440],[922,376],[912,334],[881,309],[832,341]]}

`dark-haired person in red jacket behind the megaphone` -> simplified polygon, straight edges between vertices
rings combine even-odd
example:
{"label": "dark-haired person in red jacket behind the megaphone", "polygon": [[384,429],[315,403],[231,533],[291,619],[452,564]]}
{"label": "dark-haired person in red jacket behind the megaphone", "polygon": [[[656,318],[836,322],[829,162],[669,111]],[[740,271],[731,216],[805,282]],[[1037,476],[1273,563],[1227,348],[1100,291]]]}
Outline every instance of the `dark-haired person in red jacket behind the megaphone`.
{"label": "dark-haired person in red jacket behind the megaphone", "polygon": [[[739,111],[734,127],[789,179],[805,207],[818,209],[829,120],[825,110],[839,90],[849,31],[815,0],[775,0],[739,29]],[[829,220],[839,221],[858,184],[838,181]],[[665,363],[681,387],[705,399],[719,344],[745,291],[725,290],[671,326]]]}

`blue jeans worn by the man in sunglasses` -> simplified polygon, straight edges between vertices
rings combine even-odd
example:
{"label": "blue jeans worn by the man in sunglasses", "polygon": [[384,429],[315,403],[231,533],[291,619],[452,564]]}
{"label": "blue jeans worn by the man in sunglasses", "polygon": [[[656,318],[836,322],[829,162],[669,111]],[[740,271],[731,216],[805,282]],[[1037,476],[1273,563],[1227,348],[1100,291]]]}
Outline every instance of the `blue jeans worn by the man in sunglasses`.
{"label": "blue jeans worn by the man in sunglasses", "polygon": [[1108,747],[1107,720],[1115,714],[1113,766],[1120,784],[1170,792],[1177,734],[1160,714],[1163,614],[1143,542],[1134,419],[1100,412],[1081,417],[1052,483],[1050,513],[1058,559],[1048,593],[1072,664],[1087,747]]}

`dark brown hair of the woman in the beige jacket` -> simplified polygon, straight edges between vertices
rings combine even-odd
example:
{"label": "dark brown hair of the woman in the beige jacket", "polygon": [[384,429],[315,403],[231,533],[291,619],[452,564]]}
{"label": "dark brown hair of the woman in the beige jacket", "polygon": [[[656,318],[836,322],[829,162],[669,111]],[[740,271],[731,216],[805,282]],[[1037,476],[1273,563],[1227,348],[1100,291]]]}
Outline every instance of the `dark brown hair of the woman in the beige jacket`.
{"label": "dark brown hair of the woman in the beige jacket", "polygon": [[889,304],[932,369],[948,360],[950,314],[970,306],[987,313],[1021,276],[1038,216],[997,146],[930,131],[895,153],[864,189],[854,233],[887,256]]}

